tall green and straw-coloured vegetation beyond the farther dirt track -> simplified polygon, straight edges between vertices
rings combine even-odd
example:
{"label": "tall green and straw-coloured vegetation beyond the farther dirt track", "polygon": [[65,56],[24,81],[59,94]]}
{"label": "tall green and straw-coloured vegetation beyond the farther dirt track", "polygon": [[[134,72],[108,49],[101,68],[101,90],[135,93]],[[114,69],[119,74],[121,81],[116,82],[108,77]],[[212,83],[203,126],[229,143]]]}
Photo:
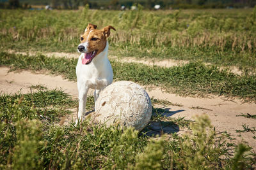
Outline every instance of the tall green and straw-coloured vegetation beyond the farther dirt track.
{"label": "tall green and straw-coloured vegetation beyond the farther dirt track", "polygon": [[88,22],[113,25],[110,55],[211,62],[254,73],[256,7],[245,10],[1,10],[1,50],[76,52]]}

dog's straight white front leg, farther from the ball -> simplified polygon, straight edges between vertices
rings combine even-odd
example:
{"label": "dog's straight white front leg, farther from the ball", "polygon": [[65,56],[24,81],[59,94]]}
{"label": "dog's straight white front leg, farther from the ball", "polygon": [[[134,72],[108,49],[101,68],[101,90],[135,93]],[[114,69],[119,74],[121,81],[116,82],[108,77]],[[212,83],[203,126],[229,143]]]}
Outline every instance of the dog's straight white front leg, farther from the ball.
{"label": "dog's straight white front leg, farther from the ball", "polygon": [[87,93],[88,93],[88,88],[83,88],[83,89],[79,89],[79,106],[78,106],[78,114],[77,114],[77,120],[76,120],[76,124],[79,122],[83,122],[84,120],[84,116],[86,113],[86,100],[87,100]]}

